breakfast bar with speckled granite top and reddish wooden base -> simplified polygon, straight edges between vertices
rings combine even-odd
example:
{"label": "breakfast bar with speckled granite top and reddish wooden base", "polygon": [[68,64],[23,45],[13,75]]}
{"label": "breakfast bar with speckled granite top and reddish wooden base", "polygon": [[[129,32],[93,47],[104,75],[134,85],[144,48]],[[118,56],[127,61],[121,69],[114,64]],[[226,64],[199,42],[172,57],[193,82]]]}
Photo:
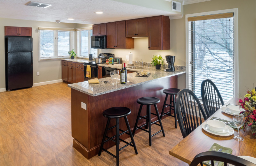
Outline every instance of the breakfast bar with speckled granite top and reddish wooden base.
{"label": "breakfast bar with speckled granite top and reddish wooden base", "polygon": [[[110,67],[110,66],[109,66]],[[178,87],[178,75],[185,71],[164,72],[154,68],[145,68],[150,70],[149,77],[136,77],[136,72],[127,74],[127,84],[120,84],[120,78],[117,78],[117,84],[111,85],[110,77],[99,79],[99,84],[88,84],[88,81],[69,84],[71,87],[71,130],[73,147],[78,150],[87,159],[97,155],[100,149],[100,143],[107,123],[107,118],[102,115],[105,109],[111,107],[128,107],[132,113],[127,116],[131,129],[133,130],[140,105],[136,102],[140,97],[154,96],[161,101],[157,103],[158,111],[161,113],[166,88]],[[108,81],[107,83],[104,83]],[[114,80],[115,82],[116,80]],[[167,112],[167,108],[165,110]],[[154,109],[152,109],[154,113]],[[142,109],[142,115],[146,115],[146,107]],[[156,116],[151,115],[151,121]],[[164,117],[163,117],[164,118]],[[145,124],[146,120],[139,120],[139,125]],[[114,126],[115,121],[110,121],[110,126]],[[127,130],[124,119],[120,119],[120,129]],[[141,130],[137,130],[140,132]],[[109,130],[109,136],[115,135],[115,128]],[[120,138],[125,140],[129,136],[122,135]],[[135,140],[136,141],[139,140]],[[115,145],[108,141],[104,148]]]}

